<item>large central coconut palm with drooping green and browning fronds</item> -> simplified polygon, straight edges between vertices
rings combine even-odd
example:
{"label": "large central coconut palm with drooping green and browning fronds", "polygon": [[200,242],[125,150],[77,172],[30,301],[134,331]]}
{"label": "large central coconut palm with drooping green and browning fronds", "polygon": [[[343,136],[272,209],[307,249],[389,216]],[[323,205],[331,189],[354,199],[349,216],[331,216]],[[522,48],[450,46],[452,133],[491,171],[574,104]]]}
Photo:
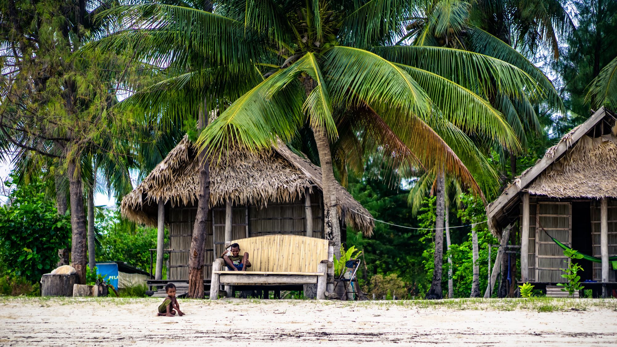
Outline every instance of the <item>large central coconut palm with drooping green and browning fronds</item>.
{"label": "large central coconut palm with drooping green and browning fronds", "polygon": [[323,174],[325,235],[338,249],[331,144],[347,130],[338,124],[361,128],[410,165],[442,165],[479,191],[457,156],[475,153],[465,133],[511,151],[520,148],[502,113],[487,101],[489,90],[496,86],[512,98],[532,100],[552,93],[520,67],[491,56],[395,46],[414,4],[229,0],[208,9],[118,6],[105,12],[117,18],[110,22],[115,32],[90,47],[130,51],[167,73],[165,82],[133,98],[157,116],[195,117],[200,108],[218,109],[198,140],[210,161],[226,146],[260,150],[278,139],[287,142],[307,124]]}

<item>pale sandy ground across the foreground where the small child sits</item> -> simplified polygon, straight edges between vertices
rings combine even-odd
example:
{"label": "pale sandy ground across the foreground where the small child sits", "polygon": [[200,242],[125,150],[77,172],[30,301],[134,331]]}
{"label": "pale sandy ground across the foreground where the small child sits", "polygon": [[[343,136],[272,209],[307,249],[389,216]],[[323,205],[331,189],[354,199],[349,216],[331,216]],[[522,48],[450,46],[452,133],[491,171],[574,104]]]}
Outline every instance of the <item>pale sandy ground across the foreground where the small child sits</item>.
{"label": "pale sandy ground across the foreground where the small child sits", "polygon": [[[153,298],[5,297],[0,346],[617,345],[617,299],[533,305],[453,300],[433,306],[180,299],[186,316],[155,317],[160,300]],[[557,311],[539,312],[547,310]]]}

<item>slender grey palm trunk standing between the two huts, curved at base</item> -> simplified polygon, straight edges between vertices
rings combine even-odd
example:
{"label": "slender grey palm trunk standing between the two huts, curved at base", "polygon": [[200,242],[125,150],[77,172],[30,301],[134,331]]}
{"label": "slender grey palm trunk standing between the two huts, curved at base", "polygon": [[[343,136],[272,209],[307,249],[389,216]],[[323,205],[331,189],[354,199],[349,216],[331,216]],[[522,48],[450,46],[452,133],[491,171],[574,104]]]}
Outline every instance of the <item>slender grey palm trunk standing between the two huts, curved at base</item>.
{"label": "slender grey palm trunk standing between the two huts, curved at base", "polygon": [[427,299],[441,299],[443,293],[441,290],[441,277],[444,265],[444,214],[445,214],[445,177],[444,173],[440,172],[437,176],[437,206],[435,220],[435,254],[433,269],[433,282],[431,288],[426,294]]}

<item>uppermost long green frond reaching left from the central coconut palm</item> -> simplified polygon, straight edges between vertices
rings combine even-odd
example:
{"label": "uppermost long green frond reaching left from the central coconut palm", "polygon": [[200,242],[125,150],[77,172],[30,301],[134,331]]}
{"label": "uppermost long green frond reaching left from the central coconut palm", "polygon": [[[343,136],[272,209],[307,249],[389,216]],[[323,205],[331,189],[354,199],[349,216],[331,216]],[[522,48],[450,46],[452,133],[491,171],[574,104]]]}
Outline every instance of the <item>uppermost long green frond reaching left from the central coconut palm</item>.
{"label": "uppermost long green frond reaching left from the central coconut palm", "polygon": [[166,4],[115,6],[101,12],[99,19],[114,17],[119,30],[94,37],[85,51],[130,51],[136,61],[161,66],[171,61],[202,66],[204,59],[217,65],[248,64],[260,52],[254,32],[247,33],[236,20],[190,7]]}

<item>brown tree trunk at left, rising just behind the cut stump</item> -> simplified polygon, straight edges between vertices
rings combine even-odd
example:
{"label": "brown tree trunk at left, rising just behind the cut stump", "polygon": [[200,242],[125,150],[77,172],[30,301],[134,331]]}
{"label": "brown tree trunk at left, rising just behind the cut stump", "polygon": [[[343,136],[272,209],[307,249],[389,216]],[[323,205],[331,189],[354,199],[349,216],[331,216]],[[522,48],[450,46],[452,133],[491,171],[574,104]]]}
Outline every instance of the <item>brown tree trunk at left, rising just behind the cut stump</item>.
{"label": "brown tree trunk at left, rising just behind the cut stump", "polygon": [[72,247],[71,265],[77,270],[79,283],[86,284],[86,215],[83,208],[83,186],[78,158],[68,161],[68,193],[71,201]]}

